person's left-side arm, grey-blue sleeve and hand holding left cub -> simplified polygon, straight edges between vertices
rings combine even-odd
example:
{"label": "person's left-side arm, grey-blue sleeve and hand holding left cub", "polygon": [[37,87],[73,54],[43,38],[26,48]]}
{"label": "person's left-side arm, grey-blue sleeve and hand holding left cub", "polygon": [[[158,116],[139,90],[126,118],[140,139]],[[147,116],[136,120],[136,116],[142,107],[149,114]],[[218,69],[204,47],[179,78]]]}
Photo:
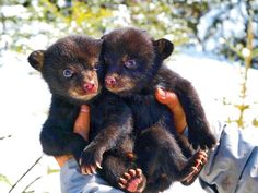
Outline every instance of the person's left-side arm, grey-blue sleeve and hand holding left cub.
{"label": "person's left-side arm, grey-blue sleeve and hand holding left cub", "polygon": [[[81,106],[81,111],[75,120],[73,131],[89,140],[90,132],[90,108]],[[72,156],[55,157],[60,170],[60,182],[62,193],[122,193],[112,188],[99,176],[81,174],[78,162]]]}

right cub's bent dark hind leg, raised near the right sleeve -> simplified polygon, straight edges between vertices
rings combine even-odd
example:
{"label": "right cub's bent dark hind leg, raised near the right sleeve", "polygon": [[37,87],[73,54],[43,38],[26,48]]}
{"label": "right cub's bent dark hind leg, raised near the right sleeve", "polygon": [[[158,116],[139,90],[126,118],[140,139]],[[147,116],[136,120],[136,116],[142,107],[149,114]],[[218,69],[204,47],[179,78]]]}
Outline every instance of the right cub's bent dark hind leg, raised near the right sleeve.
{"label": "right cub's bent dark hind leg, raised near the right sleeve", "polygon": [[146,177],[145,193],[161,192],[174,181],[183,181],[195,170],[196,153],[187,159],[176,138],[162,124],[156,124],[139,136],[136,144],[138,166]]}

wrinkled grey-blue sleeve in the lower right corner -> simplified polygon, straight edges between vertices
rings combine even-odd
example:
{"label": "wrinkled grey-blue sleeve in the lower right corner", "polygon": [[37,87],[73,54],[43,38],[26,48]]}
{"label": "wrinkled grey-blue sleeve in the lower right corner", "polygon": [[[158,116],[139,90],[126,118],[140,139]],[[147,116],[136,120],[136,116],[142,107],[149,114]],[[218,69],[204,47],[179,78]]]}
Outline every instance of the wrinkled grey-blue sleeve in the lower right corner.
{"label": "wrinkled grey-blue sleeve in the lower right corner", "polygon": [[258,131],[224,128],[220,145],[200,173],[220,193],[257,193]]}

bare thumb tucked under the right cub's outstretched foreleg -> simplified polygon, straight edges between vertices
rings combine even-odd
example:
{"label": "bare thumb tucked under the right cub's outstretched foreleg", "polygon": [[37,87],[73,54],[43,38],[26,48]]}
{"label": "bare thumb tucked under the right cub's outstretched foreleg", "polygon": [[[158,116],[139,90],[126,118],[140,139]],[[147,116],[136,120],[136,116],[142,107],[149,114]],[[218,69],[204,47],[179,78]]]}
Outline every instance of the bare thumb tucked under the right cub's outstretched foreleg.
{"label": "bare thumb tucked under the right cub's outstretched foreleg", "polygon": [[169,108],[169,110],[173,113],[176,131],[179,134],[183,134],[184,130],[187,125],[186,114],[184,112],[184,109],[183,109],[176,94],[173,92],[164,91],[159,87],[155,91],[155,97],[159,102],[164,104]]}

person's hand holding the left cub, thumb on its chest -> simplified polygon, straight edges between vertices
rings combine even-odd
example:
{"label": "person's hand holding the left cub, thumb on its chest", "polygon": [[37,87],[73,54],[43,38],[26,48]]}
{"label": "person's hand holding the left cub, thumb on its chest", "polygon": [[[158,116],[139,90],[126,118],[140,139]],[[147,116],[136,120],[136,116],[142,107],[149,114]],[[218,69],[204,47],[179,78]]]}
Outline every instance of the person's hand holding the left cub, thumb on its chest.
{"label": "person's hand holding the left cub, thumb on its chest", "polygon": [[[90,132],[90,107],[86,105],[81,106],[81,111],[74,122],[73,132],[80,134],[84,140],[89,140]],[[62,167],[68,159],[72,156],[55,157],[58,165]]]}

